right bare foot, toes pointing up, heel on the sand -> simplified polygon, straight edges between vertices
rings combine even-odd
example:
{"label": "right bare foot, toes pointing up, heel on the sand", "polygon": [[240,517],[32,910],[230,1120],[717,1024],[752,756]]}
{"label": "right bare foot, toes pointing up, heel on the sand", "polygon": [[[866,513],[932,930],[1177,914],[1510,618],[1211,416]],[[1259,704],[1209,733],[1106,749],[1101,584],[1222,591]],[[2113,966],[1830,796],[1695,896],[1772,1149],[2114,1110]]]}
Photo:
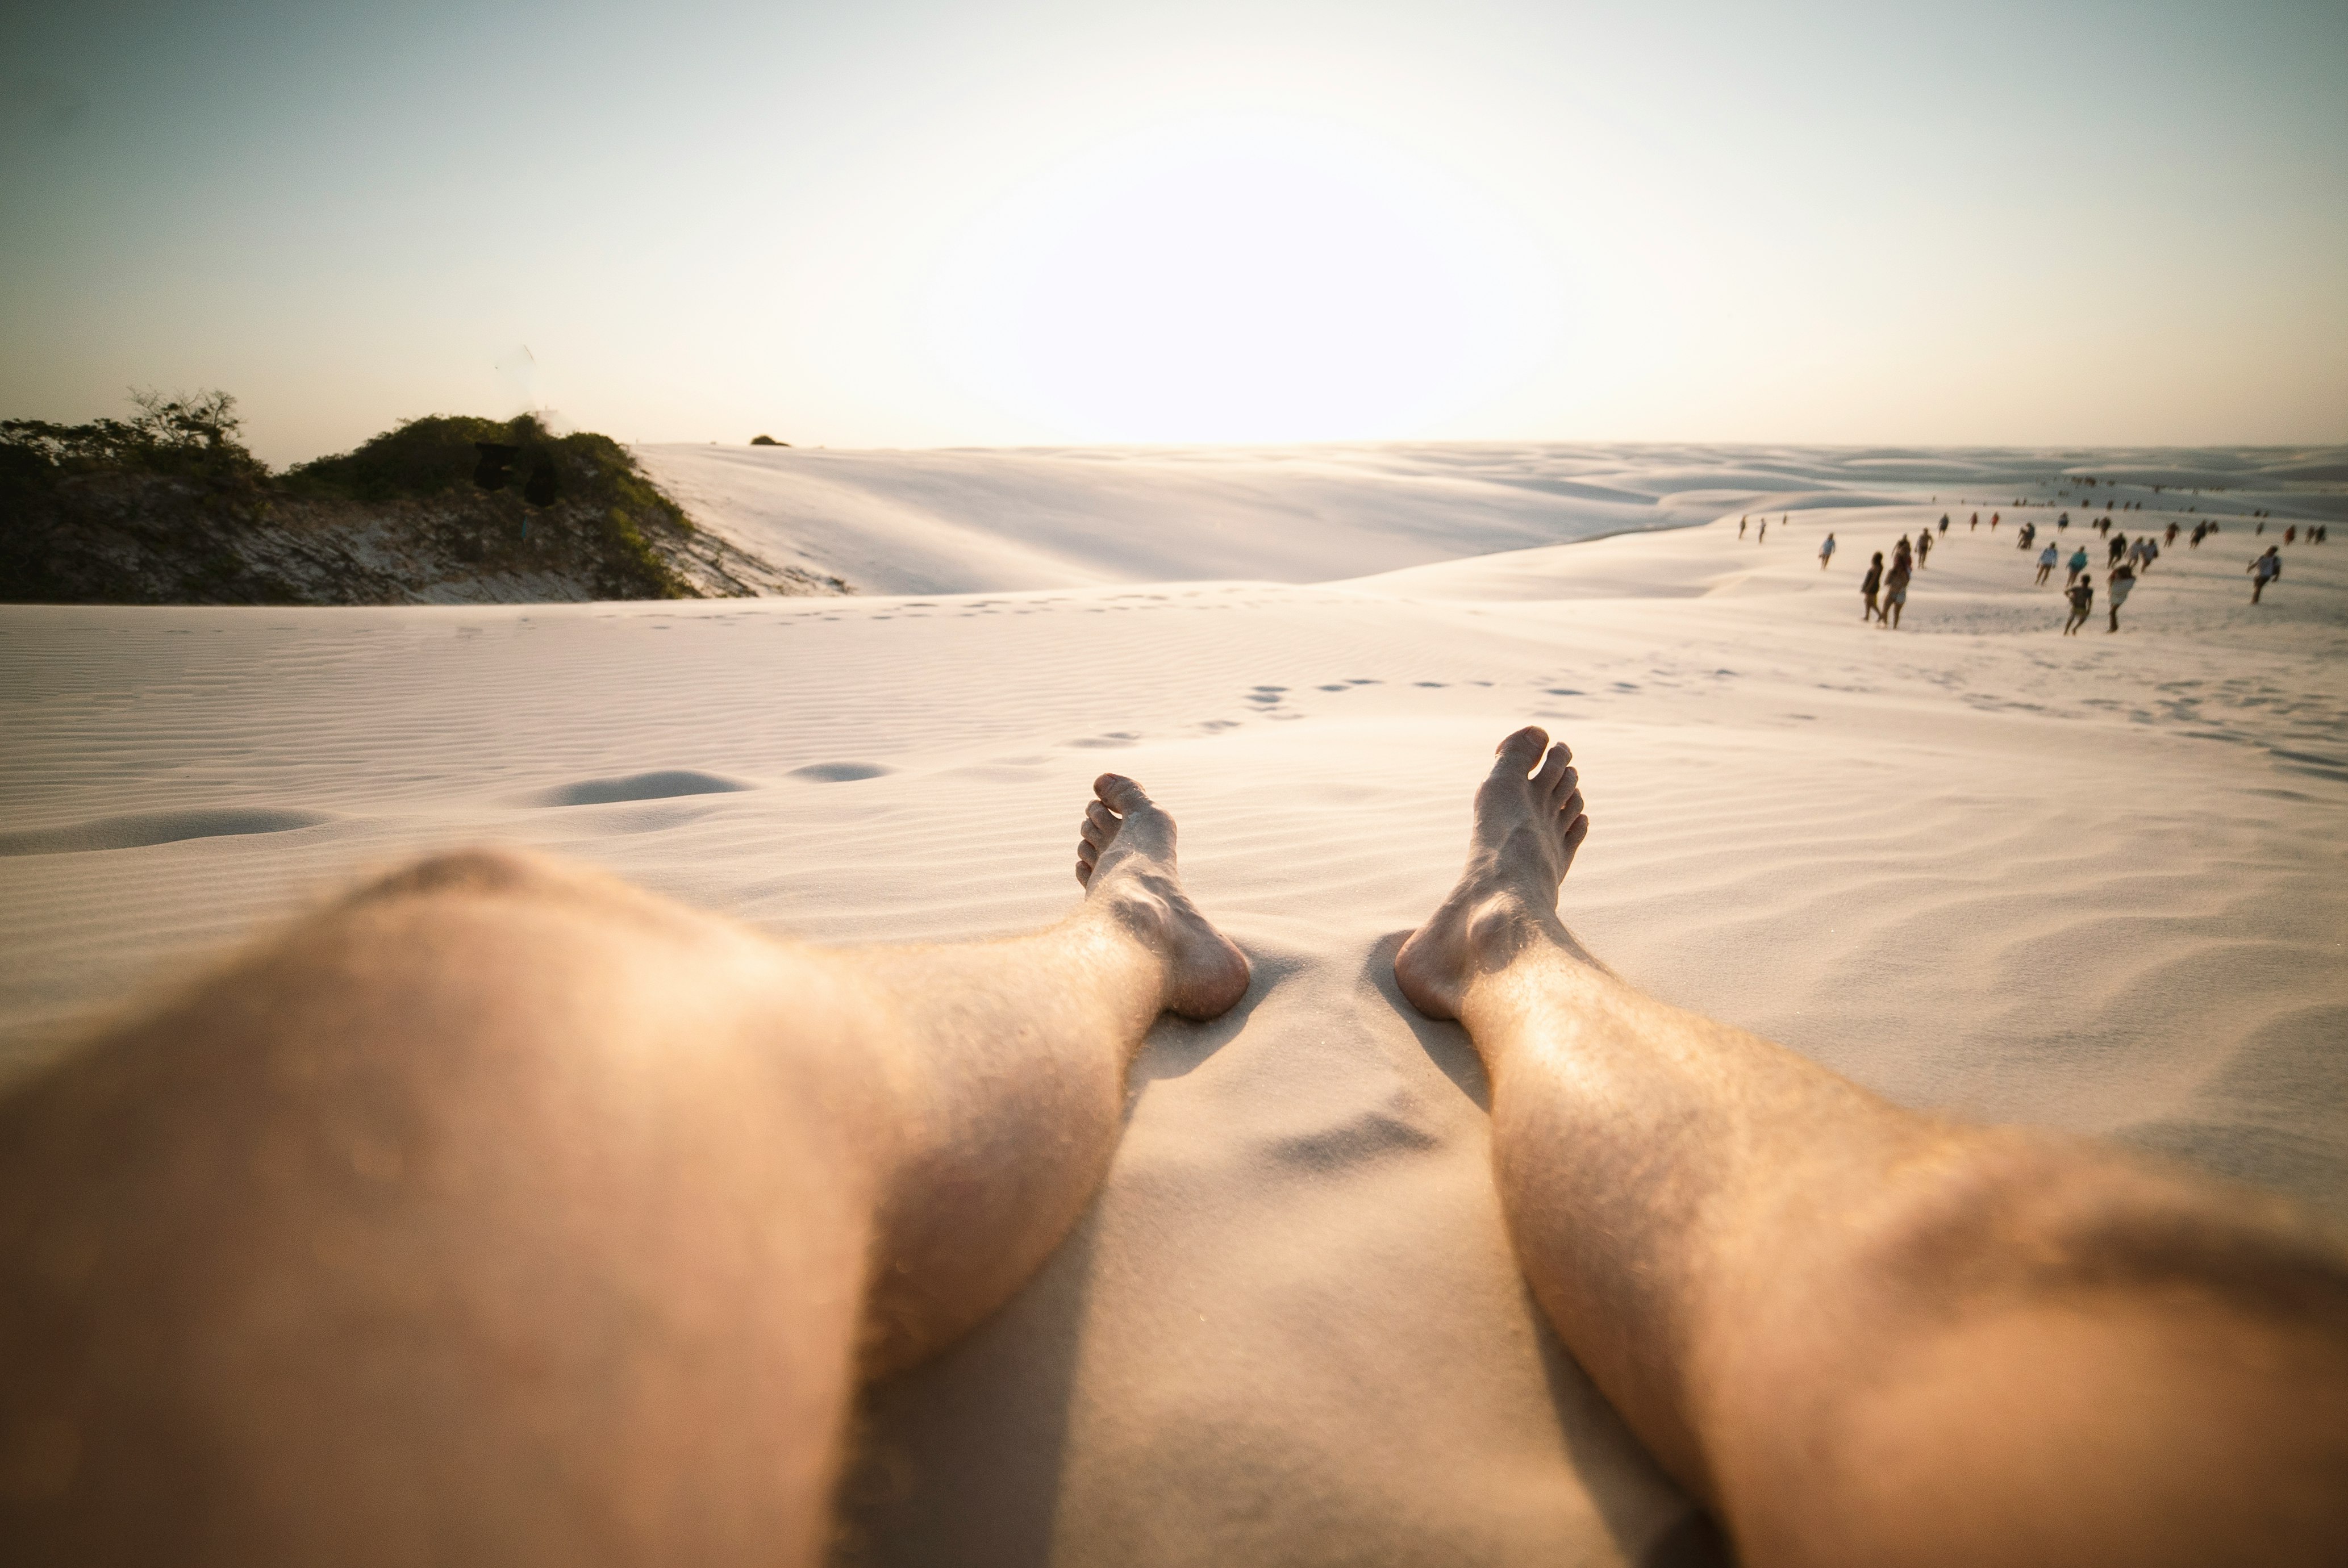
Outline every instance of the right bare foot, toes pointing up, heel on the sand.
{"label": "right bare foot, toes pointing up, heel on the sand", "polygon": [[1543,937],[1576,953],[1557,925],[1557,885],[1590,836],[1573,751],[1547,730],[1524,728],[1500,742],[1500,761],[1475,791],[1468,869],[1435,918],[1395,953],[1395,979],[1430,1019],[1460,1016],[1468,981],[1507,967]]}

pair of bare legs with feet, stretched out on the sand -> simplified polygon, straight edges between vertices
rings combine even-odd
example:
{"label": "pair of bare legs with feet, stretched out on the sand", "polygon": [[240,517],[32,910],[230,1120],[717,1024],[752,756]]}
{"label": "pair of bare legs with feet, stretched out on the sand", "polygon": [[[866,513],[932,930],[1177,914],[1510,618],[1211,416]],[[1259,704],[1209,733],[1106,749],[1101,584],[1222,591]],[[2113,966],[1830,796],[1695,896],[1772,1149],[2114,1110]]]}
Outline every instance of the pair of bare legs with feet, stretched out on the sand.
{"label": "pair of bare legs with feet, stretched out on the sand", "polygon": [[[1503,742],[1397,958],[1526,1277],[1749,1563],[2320,1561],[2348,1268],[2280,1202],[1892,1108],[1639,995]],[[812,1563],[859,1378],[1066,1235],[1244,955],[1097,782],[1033,937],[803,948],[495,852],[301,920],[0,1103],[23,1561]]]}

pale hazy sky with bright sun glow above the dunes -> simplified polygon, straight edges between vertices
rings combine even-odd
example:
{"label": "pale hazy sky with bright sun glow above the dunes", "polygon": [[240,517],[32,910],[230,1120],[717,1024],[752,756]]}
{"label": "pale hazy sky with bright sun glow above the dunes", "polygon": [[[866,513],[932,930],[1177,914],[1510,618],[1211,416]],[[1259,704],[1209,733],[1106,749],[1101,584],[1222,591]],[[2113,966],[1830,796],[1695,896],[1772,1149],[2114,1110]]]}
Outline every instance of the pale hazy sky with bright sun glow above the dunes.
{"label": "pale hazy sky with bright sun glow above the dunes", "polygon": [[0,415],[2348,441],[2348,5],[0,0]]}

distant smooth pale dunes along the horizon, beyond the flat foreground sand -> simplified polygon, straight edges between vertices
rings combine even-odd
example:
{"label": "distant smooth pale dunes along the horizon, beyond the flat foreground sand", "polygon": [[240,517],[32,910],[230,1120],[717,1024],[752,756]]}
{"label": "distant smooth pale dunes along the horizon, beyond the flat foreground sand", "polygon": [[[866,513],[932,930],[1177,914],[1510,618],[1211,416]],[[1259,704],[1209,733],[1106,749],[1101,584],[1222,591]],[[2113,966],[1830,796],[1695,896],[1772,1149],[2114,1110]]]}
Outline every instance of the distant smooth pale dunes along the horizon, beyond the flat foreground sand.
{"label": "distant smooth pale dunes along the horizon, beyond the flat foreground sand", "polygon": [[[1723,512],[1864,507],[2066,472],[2226,486],[2233,507],[2339,509],[2317,451],[1895,451],[1754,446],[1296,446],[796,451],[641,446],[693,516],[780,566],[873,594],[1104,582],[1327,582],[1500,549],[1679,528]],[[2111,472],[2097,472],[2097,465]],[[1895,486],[1885,491],[1885,486]],[[2078,488],[2078,495],[2087,495]],[[2200,500],[2198,495],[2188,500]],[[2310,516],[2320,512],[2308,512]]]}

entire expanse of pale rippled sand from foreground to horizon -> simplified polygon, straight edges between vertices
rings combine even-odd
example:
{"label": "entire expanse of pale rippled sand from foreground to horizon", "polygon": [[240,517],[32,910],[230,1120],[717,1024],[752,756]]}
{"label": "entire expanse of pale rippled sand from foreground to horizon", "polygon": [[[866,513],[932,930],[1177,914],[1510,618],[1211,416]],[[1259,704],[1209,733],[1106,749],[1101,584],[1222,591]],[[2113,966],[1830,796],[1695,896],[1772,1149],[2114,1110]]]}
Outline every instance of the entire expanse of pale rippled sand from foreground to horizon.
{"label": "entire expanse of pale rippled sand from foreground to horizon", "polygon": [[[2339,516],[2306,477],[2339,453],[707,451],[653,453],[704,523],[935,587],[0,610],[0,1049],[458,840],[815,941],[1038,925],[1089,779],[1141,777],[1256,986],[1153,1035],[1035,1284],[876,1390],[843,1556],[1693,1552],[1517,1282],[1472,1052],[1388,974],[1526,721],[1585,770],[1568,920],[1637,984],[1907,1103],[2348,1218],[2348,540],[2287,549],[2254,610],[2235,521]],[[2177,498],[2226,530],[2120,636],[2062,638],[1954,495],[1986,521],[2097,462],[2235,488]],[[1836,505],[1740,545],[1761,495]],[[1909,629],[1862,629],[1867,552],[1944,509]],[[1726,521],[1622,533],[1695,512]]]}

